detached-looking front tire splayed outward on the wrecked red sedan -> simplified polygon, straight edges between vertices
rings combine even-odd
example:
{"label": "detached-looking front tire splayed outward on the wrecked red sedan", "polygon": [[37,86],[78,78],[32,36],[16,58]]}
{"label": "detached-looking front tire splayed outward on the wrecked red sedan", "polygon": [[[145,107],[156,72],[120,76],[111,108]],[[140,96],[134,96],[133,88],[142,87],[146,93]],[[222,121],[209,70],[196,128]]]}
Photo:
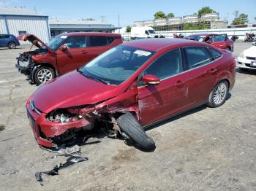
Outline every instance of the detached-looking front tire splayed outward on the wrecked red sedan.
{"label": "detached-looking front tire splayed outward on the wrecked red sedan", "polygon": [[153,139],[147,136],[145,130],[140,126],[131,113],[126,113],[118,117],[117,124],[129,136],[130,139],[138,144],[142,149],[153,149],[156,147]]}

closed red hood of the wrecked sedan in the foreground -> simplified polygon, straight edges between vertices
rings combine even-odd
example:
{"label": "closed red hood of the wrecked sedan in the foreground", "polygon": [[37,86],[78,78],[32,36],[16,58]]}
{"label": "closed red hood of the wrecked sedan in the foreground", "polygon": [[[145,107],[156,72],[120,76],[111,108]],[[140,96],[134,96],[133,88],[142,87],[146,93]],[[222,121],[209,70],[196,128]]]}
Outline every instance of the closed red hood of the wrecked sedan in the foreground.
{"label": "closed red hood of the wrecked sedan in the foreground", "polygon": [[97,104],[116,96],[118,86],[105,85],[71,71],[40,87],[31,96],[31,101],[42,112],[57,108]]}

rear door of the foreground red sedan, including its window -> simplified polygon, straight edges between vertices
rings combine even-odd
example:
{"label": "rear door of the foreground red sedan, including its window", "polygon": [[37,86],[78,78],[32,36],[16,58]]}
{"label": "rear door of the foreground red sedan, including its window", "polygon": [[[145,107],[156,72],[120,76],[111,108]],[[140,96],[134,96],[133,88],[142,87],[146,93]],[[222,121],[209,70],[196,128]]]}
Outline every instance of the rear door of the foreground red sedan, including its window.
{"label": "rear door of the foreground red sedan, including its window", "polygon": [[217,62],[207,47],[185,47],[187,60],[188,100],[192,105],[206,101],[217,82]]}

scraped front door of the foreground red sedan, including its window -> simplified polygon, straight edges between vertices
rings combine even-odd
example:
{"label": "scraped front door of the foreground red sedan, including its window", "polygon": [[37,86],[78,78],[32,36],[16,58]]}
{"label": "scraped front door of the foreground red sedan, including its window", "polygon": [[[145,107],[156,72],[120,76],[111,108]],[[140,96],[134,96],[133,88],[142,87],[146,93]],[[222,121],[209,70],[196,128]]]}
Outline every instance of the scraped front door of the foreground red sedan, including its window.
{"label": "scraped front door of the foreground red sedan, including its window", "polygon": [[179,49],[161,55],[143,71],[144,74],[158,77],[160,83],[143,85],[141,80],[138,82],[140,124],[149,125],[187,108],[188,76]]}

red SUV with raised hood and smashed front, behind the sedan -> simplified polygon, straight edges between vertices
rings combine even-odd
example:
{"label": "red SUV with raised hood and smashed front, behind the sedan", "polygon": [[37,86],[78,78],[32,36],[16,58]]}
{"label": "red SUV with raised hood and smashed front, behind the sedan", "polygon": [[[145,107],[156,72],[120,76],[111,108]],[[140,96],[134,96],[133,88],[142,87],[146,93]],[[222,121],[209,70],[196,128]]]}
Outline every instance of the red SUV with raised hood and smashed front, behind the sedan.
{"label": "red SUV with raised hood and smashed front, behind the sedan", "polygon": [[23,52],[16,68],[37,85],[60,74],[78,69],[98,55],[122,43],[120,34],[67,33],[45,44],[33,34],[23,34],[19,40],[29,41],[39,49]]}

